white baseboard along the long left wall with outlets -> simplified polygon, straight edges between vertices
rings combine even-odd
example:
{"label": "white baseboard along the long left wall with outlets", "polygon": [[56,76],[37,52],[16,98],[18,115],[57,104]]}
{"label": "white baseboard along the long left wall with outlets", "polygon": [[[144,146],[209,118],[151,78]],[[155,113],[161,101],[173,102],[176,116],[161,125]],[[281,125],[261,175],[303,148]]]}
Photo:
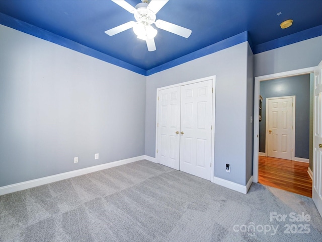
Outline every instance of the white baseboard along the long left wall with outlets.
{"label": "white baseboard along the long left wall with outlets", "polygon": [[72,170],[72,171],[68,171],[68,172],[64,172],[56,175],[50,175],[50,176],[46,176],[46,177],[42,177],[34,180],[27,180],[22,183],[16,183],[16,184],[0,187],[0,196],[8,193],[18,192],[28,188],[38,187],[48,183],[53,183],[54,181],[59,181],[59,180],[75,177],[78,175],[84,175],[84,174],[112,168],[119,165],[125,165],[131,162],[144,160],[144,159],[145,159],[145,155],[141,155],[141,156],[128,158],[124,160],[118,160],[118,161],[114,161],[106,164],[95,165],[95,166],[78,169],[78,170]]}

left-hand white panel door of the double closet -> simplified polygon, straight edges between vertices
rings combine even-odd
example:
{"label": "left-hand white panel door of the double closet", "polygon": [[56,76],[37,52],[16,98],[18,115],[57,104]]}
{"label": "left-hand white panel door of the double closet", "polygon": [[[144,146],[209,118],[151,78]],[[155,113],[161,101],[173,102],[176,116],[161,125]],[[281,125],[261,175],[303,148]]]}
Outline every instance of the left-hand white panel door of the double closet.
{"label": "left-hand white panel door of the double closet", "polygon": [[179,170],[180,87],[158,92],[157,163]]}

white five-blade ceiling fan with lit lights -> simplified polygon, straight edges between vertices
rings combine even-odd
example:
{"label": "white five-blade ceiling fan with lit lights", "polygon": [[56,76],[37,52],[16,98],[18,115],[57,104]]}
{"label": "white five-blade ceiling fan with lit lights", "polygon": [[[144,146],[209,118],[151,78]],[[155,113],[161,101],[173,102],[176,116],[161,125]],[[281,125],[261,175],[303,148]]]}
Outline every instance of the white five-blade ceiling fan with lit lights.
{"label": "white five-blade ceiling fan with lit lights", "polygon": [[113,36],[115,34],[121,33],[125,30],[133,28],[134,33],[137,35],[137,38],[145,40],[148,51],[156,50],[154,37],[156,36],[157,30],[154,29],[151,24],[159,29],[169,31],[171,33],[180,35],[182,37],[188,38],[191,34],[190,29],[186,29],[176,24],[169,23],[164,20],[156,20],[157,12],[168,3],[169,0],[141,0],[142,3],[139,3],[135,6],[131,6],[125,0],[111,0],[116,3],[126,11],[134,14],[135,21],[130,21],[125,24],[121,24],[112,29],[106,30],[105,33]]}

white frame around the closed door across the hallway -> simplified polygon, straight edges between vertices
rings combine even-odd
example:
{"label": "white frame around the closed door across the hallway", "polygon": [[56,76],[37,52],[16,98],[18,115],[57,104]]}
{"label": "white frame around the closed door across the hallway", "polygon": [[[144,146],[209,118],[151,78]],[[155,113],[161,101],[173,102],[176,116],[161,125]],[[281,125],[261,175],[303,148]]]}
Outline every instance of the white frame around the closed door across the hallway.
{"label": "white frame around the closed door across the hallway", "polygon": [[268,156],[268,100],[272,99],[282,99],[282,98],[292,98],[292,160],[295,160],[295,96],[284,96],[284,97],[267,97],[266,98],[266,120],[265,120],[265,156]]}

